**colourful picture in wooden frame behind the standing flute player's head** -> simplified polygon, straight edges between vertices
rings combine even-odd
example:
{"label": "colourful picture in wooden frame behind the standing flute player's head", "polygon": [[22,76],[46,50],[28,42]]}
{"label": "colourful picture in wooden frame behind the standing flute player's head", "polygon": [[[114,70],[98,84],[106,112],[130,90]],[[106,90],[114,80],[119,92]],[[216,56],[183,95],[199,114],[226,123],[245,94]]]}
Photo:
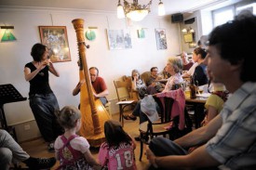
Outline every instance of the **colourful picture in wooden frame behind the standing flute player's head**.
{"label": "colourful picture in wooden frame behind the standing flute player's head", "polygon": [[48,48],[52,62],[70,61],[70,50],[65,26],[39,26],[41,43]]}

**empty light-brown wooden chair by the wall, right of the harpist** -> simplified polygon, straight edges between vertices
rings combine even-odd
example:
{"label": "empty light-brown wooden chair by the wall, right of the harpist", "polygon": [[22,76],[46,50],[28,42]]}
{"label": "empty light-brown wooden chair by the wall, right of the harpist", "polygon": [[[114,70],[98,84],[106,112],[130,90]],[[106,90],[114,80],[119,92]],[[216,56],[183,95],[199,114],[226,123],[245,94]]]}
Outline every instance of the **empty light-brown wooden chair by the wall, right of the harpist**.
{"label": "empty light-brown wooden chair by the wall, right of the harpist", "polygon": [[138,102],[139,98],[137,98],[138,95],[132,95],[133,92],[130,92],[128,81],[115,80],[114,85],[115,85],[115,91],[118,99],[118,102],[116,104],[119,105],[119,122],[123,126],[124,125],[123,113],[125,109],[128,106],[134,106]]}

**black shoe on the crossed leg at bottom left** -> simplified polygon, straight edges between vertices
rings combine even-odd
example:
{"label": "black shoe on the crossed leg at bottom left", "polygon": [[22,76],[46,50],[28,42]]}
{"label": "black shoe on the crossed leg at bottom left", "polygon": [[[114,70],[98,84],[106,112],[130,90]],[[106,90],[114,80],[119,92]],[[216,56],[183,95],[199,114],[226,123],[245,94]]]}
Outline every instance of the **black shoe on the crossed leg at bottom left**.
{"label": "black shoe on the crossed leg at bottom left", "polygon": [[47,169],[52,167],[56,163],[54,157],[51,158],[33,158],[30,157],[24,161],[30,169]]}

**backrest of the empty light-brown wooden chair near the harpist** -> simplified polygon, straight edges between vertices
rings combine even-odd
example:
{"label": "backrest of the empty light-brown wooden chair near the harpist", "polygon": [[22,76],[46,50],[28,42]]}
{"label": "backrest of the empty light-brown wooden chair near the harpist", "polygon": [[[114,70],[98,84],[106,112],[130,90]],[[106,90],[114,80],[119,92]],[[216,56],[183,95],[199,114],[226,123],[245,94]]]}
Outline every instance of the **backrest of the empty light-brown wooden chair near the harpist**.
{"label": "backrest of the empty light-brown wooden chair near the harpist", "polygon": [[118,101],[132,99],[128,90],[128,81],[115,80],[114,85]]}

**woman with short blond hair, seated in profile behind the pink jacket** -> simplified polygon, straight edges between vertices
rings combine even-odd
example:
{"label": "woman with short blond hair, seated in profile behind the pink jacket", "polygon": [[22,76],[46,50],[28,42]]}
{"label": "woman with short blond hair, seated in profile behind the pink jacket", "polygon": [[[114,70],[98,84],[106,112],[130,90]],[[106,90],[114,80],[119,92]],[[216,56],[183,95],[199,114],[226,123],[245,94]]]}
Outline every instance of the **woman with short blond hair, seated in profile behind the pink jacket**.
{"label": "woman with short blond hair, seated in profile behind the pink jacket", "polygon": [[[181,84],[183,82],[181,73],[182,59],[177,57],[169,58],[166,70],[170,73],[171,77],[168,79],[167,85],[165,86],[165,89],[162,91],[162,93],[172,90],[174,85]],[[141,112],[141,100],[137,103],[132,113],[125,115],[124,118],[126,120],[135,121],[136,116],[140,116],[140,124],[147,121],[146,115],[144,115],[144,113]]]}

